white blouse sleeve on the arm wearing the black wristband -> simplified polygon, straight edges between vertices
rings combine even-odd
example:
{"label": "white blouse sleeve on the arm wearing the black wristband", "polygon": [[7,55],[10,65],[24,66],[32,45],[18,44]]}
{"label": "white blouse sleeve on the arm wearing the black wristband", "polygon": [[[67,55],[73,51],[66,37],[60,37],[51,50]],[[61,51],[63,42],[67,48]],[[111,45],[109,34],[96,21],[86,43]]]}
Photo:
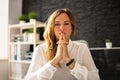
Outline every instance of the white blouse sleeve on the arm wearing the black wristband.
{"label": "white blouse sleeve on the arm wearing the black wristband", "polygon": [[77,78],[77,80],[100,80],[98,69],[96,68],[90,51],[87,46],[84,46],[79,52],[82,52],[82,64],[76,61],[75,66],[71,71],[71,74]]}

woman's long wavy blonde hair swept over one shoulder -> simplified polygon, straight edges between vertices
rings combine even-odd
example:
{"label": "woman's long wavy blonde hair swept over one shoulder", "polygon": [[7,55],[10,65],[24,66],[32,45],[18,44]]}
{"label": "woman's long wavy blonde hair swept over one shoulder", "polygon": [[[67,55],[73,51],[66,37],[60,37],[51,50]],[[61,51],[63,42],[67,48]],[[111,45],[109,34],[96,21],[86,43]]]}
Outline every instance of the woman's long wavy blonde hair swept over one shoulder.
{"label": "woman's long wavy blonde hair swept over one shoulder", "polygon": [[61,13],[66,13],[68,15],[72,25],[72,35],[75,34],[75,31],[76,31],[75,19],[72,13],[68,9],[58,9],[51,14],[51,16],[47,20],[46,29],[44,32],[44,39],[47,44],[46,52],[45,52],[47,61],[53,59],[56,55],[57,44],[56,44],[56,38],[54,35],[54,21],[55,21],[55,18],[59,16]]}

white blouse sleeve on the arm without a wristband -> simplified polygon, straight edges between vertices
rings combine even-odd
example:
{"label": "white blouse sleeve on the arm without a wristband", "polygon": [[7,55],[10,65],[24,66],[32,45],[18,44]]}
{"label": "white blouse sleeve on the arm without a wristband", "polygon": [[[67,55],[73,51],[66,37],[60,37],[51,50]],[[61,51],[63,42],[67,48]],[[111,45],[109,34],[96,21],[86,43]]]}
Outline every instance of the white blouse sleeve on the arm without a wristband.
{"label": "white blouse sleeve on the arm without a wristband", "polygon": [[37,47],[34,51],[33,59],[30,64],[25,80],[50,80],[57,68],[52,66],[50,62],[43,65],[44,55],[42,49]]}

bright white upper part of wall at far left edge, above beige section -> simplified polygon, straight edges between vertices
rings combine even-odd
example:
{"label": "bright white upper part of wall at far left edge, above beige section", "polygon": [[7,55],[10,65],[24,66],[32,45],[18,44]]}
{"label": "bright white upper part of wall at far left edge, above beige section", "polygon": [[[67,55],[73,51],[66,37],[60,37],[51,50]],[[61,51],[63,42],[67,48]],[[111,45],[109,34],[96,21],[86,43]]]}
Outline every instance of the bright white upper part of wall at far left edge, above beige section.
{"label": "bright white upper part of wall at far left edge, above beige section", "polygon": [[9,0],[0,0],[0,59],[8,58],[8,4]]}

